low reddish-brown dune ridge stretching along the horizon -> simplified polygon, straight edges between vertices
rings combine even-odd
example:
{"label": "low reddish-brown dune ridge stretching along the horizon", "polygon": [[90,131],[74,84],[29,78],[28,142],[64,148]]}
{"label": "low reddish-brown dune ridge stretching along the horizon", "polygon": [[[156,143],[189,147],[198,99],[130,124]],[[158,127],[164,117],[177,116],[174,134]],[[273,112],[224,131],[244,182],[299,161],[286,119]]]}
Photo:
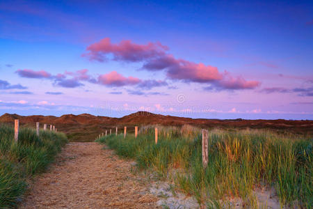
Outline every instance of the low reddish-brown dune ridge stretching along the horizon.
{"label": "low reddish-brown dune ridge stretching along the horizon", "polygon": [[[3,114],[0,116],[0,123],[12,123],[19,119],[19,123],[26,127],[35,127],[35,122],[56,125],[59,131],[65,132],[70,141],[93,141],[99,133],[112,129],[116,126],[125,125],[127,132],[134,132],[134,126],[138,125],[195,125],[202,128],[256,128],[272,129],[278,132],[290,132],[294,134],[305,134],[313,136],[313,121],[287,121],[287,120],[218,120],[218,119],[193,119],[176,116],[163,116],[161,114],[152,114],[147,111],[138,111],[134,114],[122,118],[111,118],[106,116],[93,116],[90,114],[73,115],[67,114],[61,117],[56,116],[19,116],[17,114]],[[49,126],[48,126],[49,127]]]}

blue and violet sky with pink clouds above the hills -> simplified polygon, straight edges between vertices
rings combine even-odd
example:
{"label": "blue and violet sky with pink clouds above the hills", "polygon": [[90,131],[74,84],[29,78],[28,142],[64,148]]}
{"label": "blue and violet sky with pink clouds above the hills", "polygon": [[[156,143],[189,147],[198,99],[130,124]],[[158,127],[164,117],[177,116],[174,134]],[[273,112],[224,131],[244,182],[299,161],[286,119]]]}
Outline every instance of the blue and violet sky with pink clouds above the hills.
{"label": "blue and violet sky with pink clouds above the hills", "polygon": [[0,114],[313,119],[312,1],[0,0]]}

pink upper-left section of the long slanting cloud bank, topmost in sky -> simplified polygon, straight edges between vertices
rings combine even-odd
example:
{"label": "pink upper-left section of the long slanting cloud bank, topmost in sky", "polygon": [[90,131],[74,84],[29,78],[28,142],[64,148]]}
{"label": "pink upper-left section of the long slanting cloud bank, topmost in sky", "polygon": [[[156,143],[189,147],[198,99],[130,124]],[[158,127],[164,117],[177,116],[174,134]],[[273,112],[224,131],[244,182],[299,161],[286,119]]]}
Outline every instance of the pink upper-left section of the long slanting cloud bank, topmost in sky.
{"label": "pink upper-left section of the long slanting cloud bank, topmost in sky", "polygon": [[113,54],[119,61],[144,61],[165,54],[168,47],[161,43],[148,42],[146,45],[138,45],[131,40],[122,40],[118,44],[112,44],[110,38],[104,38],[87,47],[86,54],[90,60],[104,61],[108,54]]}

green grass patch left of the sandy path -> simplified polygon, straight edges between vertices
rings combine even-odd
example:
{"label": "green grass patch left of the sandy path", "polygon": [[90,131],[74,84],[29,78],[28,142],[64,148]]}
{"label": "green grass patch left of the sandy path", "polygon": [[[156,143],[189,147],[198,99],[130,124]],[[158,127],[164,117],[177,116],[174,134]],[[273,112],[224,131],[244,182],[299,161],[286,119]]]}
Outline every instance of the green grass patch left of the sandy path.
{"label": "green grass patch left of the sandy path", "polygon": [[45,171],[54,156],[67,143],[65,134],[19,129],[19,141],[14,129],[0,124],[0,208],[13,208],[27,188],[26,180]]}

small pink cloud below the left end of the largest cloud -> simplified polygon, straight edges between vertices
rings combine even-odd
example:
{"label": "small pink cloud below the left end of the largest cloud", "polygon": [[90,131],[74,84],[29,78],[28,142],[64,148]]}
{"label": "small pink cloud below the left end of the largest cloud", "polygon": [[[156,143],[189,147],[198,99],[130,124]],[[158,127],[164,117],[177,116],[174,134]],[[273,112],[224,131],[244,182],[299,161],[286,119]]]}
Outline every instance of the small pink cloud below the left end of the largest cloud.
{"label": "small pink cloud below the left end of the largest cloud", "polygon": [[136,77],[125,77],[116,71],[109,72],[98,77],[98,83],[104,86],[127,86],[136,85],[141,82],[141,79]]}

